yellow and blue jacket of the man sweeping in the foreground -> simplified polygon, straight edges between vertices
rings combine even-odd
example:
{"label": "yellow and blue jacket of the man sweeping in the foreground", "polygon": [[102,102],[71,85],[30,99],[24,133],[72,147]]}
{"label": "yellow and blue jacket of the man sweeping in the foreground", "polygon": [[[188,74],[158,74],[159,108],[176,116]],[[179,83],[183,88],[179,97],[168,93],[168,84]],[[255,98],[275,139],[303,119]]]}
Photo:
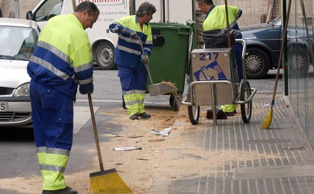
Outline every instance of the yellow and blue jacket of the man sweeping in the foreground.
{"label": "yellow and blue jacket of the man sweeping in the foreground", "polygon": [[51,18],[28,63],[30,77],[75,100],[77,84],[93,87],[93,70],[91,43],[80,20],[73,14]]}

